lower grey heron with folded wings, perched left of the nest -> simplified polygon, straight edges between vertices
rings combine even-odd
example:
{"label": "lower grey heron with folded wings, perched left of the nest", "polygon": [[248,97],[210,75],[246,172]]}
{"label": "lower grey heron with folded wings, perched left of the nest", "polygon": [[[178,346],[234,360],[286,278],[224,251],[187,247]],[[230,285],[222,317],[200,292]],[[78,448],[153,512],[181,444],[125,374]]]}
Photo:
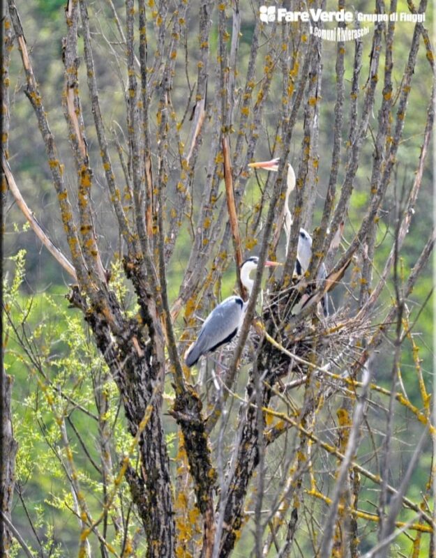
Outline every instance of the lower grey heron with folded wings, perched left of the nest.
{"label": "lower grey heron with folded wings, perched left of the nest", "polygon": [[[249,257],[241,266],[241,283],[248,291],[248,299],[253,289],[254,281],[250,278],[250,273],[257,268],[259,258]],[[265,267],[278,266],[278,262],[265,262]],[[243,318],[246,315],[248,300],[246,302],[241,296],[229,296],[222,303],[213,308],[206,318],[197,340],[189,347],[185,354],[187,366],[197,363],[200,356],[211,353],[221,345],[230,342],[238,333]]]}

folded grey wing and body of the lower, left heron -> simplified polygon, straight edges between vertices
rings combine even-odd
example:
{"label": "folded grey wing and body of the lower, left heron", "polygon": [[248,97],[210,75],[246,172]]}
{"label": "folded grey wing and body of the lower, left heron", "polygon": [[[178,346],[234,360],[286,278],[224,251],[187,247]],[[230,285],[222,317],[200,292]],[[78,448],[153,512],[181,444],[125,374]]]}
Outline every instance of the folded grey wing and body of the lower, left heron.
{"label": "folded grey wing and body of the lower, left heron", "polygon": [[239,296],[229,296],[212,310],[197,340],[186,354],[186,365],[193,366],[200,356],[218,349],[234,338],[241,325],[243,306],[243,300]]}

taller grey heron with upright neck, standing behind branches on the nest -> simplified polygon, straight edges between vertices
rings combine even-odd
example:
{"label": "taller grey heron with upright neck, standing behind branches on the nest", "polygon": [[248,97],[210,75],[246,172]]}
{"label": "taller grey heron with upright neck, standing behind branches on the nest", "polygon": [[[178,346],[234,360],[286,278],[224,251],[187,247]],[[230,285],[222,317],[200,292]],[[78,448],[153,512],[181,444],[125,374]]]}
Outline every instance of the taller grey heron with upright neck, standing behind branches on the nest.
{"label": "taller grey heron with upright neck, standing behind branches on the nest", "polygon": [[[249,167],[255,169],[265,169],[272,172],[278,171],[278,163],[280,158],[271,159],[270,161],[260,161],[258,163],[249,163]],[[286,194],[285,194],[285,205],[283,211],[285,212],[285,217],[283,219],[283,226],[285,227],[286,234],[286,250],[289,248],[291,228],[292,228],[292,213],[289,209],[289,197],[292,190],[295,188],[295,172],[292,165],[288,165],[287,176],[286,176]],[[310,259],[312,259],[312,236],[304,230],[300,229],[298,246],[296,247],[296,262],[295,262],[295,273],[298,276],[304,275],[308,271]],[[323,281],[326,278],[326,266],[324,262],[320,265],[317,273],[317,281]],[[324,316],[329,315],[329,298],[325,293],[322,297],[322,310]]]}

